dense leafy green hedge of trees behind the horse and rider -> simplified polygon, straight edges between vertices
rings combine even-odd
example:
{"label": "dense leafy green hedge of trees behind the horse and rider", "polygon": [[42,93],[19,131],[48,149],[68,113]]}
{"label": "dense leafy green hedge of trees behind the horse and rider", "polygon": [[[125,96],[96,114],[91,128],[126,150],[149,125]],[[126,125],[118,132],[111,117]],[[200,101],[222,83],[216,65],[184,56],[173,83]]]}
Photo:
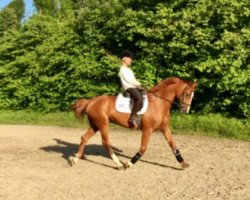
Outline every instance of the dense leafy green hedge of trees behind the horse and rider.
{"label": "dense leafy green hedge of trees behind the horse and rider", "polygon": [[40,1],[41,12],[0,38],[0,107],[65,110],[76,98],[115,95],[119,55],[151,87],[198,79],[194,110],[250,117],[247,0]]}

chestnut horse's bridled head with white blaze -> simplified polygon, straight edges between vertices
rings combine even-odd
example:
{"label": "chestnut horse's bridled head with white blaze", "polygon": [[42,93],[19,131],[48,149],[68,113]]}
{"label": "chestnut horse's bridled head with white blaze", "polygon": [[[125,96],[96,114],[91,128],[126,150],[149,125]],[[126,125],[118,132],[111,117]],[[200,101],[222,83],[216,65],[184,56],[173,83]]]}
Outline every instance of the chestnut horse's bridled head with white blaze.
{"label": "chestnut horse's bridled head with white blaze", "polygon": [[194,97],[194,90],[197,86],[197,81],[183,81],[182,90],[180,90],[179,95],[177,95],[179,101],[179,111],[182,113],[189,113],[192,100]]}

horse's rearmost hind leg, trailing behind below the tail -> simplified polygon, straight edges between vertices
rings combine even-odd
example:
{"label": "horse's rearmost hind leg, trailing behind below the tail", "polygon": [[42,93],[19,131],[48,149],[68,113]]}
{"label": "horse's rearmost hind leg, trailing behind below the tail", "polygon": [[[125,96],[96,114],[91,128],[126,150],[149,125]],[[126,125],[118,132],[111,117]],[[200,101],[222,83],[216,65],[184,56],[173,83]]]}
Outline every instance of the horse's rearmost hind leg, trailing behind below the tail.
{"label": "horse's rearmost hind leg, trailing behind below the tail", "polygon": [[81,137],[81,143],[78,148],[78,152],[75,154],[75,157],[70,158],[70,164],[73,166],[77,161],[84,156],[84,147],[88,140],[94,136],[97,132],[97,128],[89,127],[88,131]]}

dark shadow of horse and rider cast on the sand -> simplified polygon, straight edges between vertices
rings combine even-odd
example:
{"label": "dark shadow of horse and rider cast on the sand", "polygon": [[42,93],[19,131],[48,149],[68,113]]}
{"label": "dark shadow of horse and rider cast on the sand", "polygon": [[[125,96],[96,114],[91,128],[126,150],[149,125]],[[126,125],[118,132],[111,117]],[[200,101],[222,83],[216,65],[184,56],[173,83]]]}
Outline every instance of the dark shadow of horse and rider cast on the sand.
{"label": "dark shadow of horse and rider cast on the sand", "polygon": [[[70,143],[70,142],[66,142],[60,139],[56,139],[54,138],[53,140],[56,141],[56,145],[53,146],[46,146],[46,147],[41,147],[40,149],[46,152],[56,152],[56,153],[60,153],[62,154],[62,158],[64,158],[65,160],[69,161],[69,157],[73,156],[77,151],[78,151],[78,144],[74,144],[74,143]],[[125,155],[123,153],[122,150],[112,146],[113,151],[115,152],[115,154],[119,157],[123,157],[123,158],[127,158],[127,159],[131,159],[131,157]],[[97,145],[97,144],[89,144],[86,145],[84,148],[84,154],[86,156],[88,155],[96,155],[96,156],[103,156],[105,158],[110,158],[109,154],[107,153],[106,149],[103,147],[103,145]],[[103,163],[99,163],[93,160],[90,160],[88,158],[85,158],[85,160],[95,163],[95,164],[100,164],[103,165],[105,167],[110,167],[110,168],[115,168],[113,166],[109,166]],[[152,165],[157,165],[160,167],[166,167],[166,168],[171,168],[174,170],[182,170],[182,168],[177,168],[177,167],[173,167],[173,166],[168,166],[168,165],[164,165],[164,164],[160,164],[160,163],[156,163],[156,162],[152,162],[152,161],[147,161],[144,159],[141,159],[140,162],[144,162],[147,164],[152,164]]]}

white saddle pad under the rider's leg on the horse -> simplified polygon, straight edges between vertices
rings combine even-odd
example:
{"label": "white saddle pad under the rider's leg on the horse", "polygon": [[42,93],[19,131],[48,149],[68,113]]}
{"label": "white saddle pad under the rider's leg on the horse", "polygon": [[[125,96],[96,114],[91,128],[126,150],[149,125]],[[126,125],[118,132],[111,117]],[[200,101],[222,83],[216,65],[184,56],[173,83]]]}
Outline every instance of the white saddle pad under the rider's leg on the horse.
{"label": "white saddle pad under the rider's leg on the horse", "polygon": [[[148,109],[148,97],[147,95],[143,95],[143,107],[142,109],[137,113],[139,115],[145,113]],[[116,102],[115,102],[115,109],[117,112],[122,112],[122,113],[131,113],[132,109],[132,103],[129,97],[124,97],[122,93],[120,93],[117,96]]]}

